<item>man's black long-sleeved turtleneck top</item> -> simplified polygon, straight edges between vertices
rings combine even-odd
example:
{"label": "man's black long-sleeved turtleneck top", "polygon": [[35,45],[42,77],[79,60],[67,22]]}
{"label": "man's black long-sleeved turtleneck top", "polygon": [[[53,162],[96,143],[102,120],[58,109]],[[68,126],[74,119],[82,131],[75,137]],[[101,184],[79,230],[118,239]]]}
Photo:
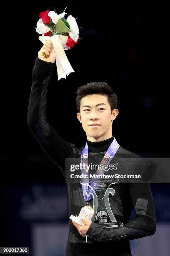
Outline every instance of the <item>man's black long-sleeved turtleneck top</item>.
{"label": "man's black long-sleeved turtleneck top", "polygon": [[[63,175],[66,175],[65,159],[81,159],[83,148],[73,143],[68,143],[60,138],[55,129],[46,118],[46,94],[49,79],[54,64],[36,59],[32,72],[32,88],[28,108],[28,125],[31,132],[40,143],[50,159],[60,167]],[[87,141],[89,147],[88,157],[91,159],[103,158],[107,148],[113,140],[109,138],[101,142]],[[115,158],[136,158],[137,155],[119,147]],[[92,222],[87,231],[88,243],[97,241],[128,241],[129,239],[150,236],[155,233],[155,212],[150,185],[145,184],[113,184],[114,197],[110,197],[110,207],[117,221],[122,222],[122,228],[103,228],[96,220]],[[81,207],[85,205],[81,184],[67,184],[70,202],[70,215],[78,215]],[[102,193],[102,192],[101,192]],[[100,204],[100,201],[98,202]],[[136,218],[129,222],[132,209],[135,209]],[[86,243],[77,229],[70,221],[68,243]],[[127,242],[127,248],[129,241]],[[125,246],[125,245],[124,245]],[[129,255],[129,254],[128,254]]]}

